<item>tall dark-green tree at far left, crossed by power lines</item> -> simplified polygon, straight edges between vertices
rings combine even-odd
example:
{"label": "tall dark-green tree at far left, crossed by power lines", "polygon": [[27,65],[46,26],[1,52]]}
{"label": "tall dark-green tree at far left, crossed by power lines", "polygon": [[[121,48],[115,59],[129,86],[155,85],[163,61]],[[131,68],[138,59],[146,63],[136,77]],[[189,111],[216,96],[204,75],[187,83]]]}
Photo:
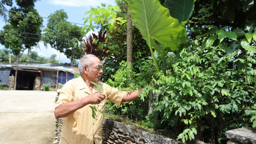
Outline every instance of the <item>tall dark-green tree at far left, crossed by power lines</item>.
{"label": "tall dark-green tree at far left, crossed by power lines", "polygon": [[[36,0],[17,0],[17,8],[12,7],[9,12],[9,26],[4,27],[8,31],[8,35],[15,36],[16,40],[21,42],[21,45],[15,47],[16,63],[19,61],[20,52],[28,49],[27,62],[29,61],[29,52],[31,47],[37,45],[41,39],[41,29],[43,19],[39,16],[37,10],[34,9]],[[10,0],[5,0],[5,3],[11,6]],[[3,32],[3,31],[1,31]],[[16,33],[16,34],[14,34]],[[2,33],[6,35],[6,33]],[[8,37],[4,37],[8,38]],[[14,47],[9,47],[8,40],[2,40],[2,45],[13,51]],[[6,43],[5,43],[6,42]],[[20,51],[18,52],[17,47]]]}

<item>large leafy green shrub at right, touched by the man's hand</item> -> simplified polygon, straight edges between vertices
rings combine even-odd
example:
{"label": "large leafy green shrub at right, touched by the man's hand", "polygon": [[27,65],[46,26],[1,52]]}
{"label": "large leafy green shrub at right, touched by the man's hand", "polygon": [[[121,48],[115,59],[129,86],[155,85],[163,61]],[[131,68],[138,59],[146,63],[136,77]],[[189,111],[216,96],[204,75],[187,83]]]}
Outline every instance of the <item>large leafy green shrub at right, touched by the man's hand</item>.
{"label": "large leafy green shrub at right, touched by the man's hand", "polygon": [[225,131],[256,127],[256,58],[247,52],[233,61],[243,63],[240,70],[217,43],[209,40],[205,51],[196,44],[183,49],[170,59],[171,69],[154,80],[159,88],[147,89],[161,98],[153,104],[156,128],[175,131],[182,141],[225,143]]}

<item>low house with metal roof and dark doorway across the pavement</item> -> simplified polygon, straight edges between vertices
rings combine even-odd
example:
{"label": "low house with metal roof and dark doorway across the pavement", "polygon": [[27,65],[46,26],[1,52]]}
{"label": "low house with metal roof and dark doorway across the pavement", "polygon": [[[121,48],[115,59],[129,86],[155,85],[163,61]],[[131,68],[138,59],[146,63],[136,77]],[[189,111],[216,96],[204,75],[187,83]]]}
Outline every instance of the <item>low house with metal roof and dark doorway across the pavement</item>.
{"label": "low house with metal roof and dark doorway across the pavement", "polygon": [[44,83],[57,87],[74,78],[77,66],[70,64],[1,64],[0,83],[8,90],[40,90]]}

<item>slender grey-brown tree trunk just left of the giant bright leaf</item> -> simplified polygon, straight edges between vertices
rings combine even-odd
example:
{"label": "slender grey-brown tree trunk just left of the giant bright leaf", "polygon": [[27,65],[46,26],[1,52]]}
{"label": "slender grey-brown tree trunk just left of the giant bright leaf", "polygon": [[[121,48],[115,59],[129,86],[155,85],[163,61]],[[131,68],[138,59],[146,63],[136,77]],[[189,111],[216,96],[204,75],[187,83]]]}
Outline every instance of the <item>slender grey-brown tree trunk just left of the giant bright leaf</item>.
{"label": "slender grey-brown tree trunk just left of the giant bright leaf", "polygon": [[132,65],[132,22],[131,14],[129,10],[127,11],[127,62],[129,65]]}

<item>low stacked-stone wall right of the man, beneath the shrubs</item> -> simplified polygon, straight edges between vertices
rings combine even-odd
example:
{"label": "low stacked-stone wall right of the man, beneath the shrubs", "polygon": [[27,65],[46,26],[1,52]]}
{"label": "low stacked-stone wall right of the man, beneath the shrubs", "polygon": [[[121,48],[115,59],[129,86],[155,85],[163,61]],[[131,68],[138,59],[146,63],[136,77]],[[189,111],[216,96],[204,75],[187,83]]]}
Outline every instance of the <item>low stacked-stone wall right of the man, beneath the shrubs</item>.
{"label": "low stacked-stone wall right of the man, beneath the shrubs", "polygon": [[181,144],[182,142],[104,118],[102,143],[106,144]]}

